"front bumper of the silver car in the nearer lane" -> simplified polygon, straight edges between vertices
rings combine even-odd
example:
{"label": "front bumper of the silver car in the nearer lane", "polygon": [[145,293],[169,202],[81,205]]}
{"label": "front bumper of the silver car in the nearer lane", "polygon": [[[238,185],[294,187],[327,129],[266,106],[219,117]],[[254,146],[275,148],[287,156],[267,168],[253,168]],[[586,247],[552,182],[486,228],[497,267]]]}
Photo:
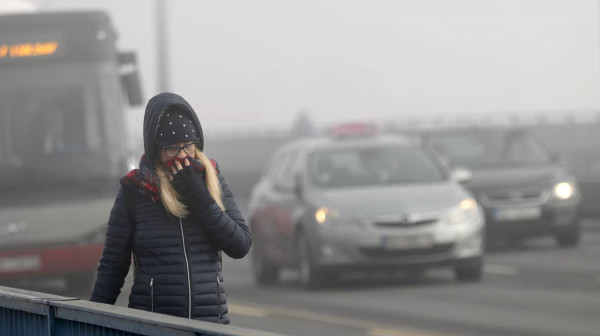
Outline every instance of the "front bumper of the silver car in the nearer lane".
{"label": "front bumper of the silver car in the nearer lane", "polygon": [[[481,258],[484,253],[484,223],[448,225],[436,223],[419,228],[387,230],[356,229],[318,232],[312,246],[319,266],[343,267],[421,267],[453,266],[463,260]],[[390,239],[429,237],[430,243],[414,248],[386,244]]]}

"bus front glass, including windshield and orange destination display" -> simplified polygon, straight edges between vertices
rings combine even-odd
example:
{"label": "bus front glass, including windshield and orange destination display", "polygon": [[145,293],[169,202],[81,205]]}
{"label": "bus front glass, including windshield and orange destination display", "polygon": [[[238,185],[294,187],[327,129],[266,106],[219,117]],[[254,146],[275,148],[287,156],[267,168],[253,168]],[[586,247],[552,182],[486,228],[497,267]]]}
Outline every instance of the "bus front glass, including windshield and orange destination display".
{"label": "bus front glass, including windshield and orange destination display", "polygon": [[0,21],[0,191],[118,180],[127,145],[109,17],[56,12]]}

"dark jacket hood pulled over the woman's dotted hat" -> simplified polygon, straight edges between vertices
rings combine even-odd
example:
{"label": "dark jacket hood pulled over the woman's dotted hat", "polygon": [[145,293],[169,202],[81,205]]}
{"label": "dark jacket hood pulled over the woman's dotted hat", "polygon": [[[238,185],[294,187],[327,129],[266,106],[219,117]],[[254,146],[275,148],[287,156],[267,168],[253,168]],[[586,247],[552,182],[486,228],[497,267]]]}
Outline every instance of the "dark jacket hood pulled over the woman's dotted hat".
{"label": "dark jacket hood pulled over the woman's dotted hat", "polygon": [[158,122],[170,107],[177,107],[187,113],[198,132],[198,146],[200,150],[204,150],[204,133],[192,106],[177,94],[170,92],[159,93],[148,101],[144,114],[144,152],[150,164],[156,160],[158,154],[156,145]]}

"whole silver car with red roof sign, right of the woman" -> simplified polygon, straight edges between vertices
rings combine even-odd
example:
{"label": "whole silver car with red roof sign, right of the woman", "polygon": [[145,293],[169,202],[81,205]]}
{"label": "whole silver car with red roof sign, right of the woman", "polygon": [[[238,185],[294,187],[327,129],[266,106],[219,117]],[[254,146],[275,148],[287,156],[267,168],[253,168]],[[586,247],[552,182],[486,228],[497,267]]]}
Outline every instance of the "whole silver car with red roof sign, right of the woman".
{"label": "whole silver car with red roof sign, right of the woman", "polygon": [[324,137],[281,148],[249,205],[258,284],[296,268],[306,286],[345,271],[482,274],[484,216],[425,149],[391,135]]}

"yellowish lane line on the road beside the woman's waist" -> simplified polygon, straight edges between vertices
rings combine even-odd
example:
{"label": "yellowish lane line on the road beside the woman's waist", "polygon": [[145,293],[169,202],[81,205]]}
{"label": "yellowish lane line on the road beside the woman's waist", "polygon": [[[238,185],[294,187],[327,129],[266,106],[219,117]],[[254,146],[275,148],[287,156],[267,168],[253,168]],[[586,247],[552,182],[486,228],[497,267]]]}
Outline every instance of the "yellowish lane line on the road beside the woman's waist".
{"label": "yellowish lane line on the road beside the woman's waist", "polygon": [[[373,323],[368,321],[355,320],[345,317],[333,316],[329,314],[313,313],[306,310],[300,309],[288,309],[288,308],[258,308],[250,305],[243,304],[228,304],[229,312],[232,314],[240,315],[244,314],[256,314],[256,317],[266,317],[268,315],[291,317],[295,319],[309,320],[314,322],[320,322],[324,324],[331,324],[341,327],[363,329],[368,332],[370,336],[449,336],[449,334],[430,333],[422,330],[410,329],[410,328],[398,328],[392,325],[383,325],[380,323]],[[264,315],[263,315],[264,314]],[[262,315],[262,316],[258,316]],[[250,316],[250,315],[247,315]]]}

